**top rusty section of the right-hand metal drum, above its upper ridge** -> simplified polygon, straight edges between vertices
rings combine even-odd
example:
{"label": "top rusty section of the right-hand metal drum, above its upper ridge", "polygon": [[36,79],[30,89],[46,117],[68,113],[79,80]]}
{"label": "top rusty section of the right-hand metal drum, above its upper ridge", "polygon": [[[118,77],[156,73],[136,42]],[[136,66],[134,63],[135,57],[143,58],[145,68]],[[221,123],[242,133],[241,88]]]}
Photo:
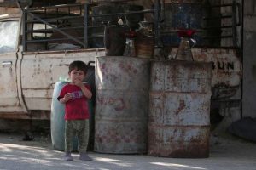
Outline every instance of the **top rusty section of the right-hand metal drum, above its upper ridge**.
{"label": "top rusty section of the right-hand metal drum, above its upper ridge", "polygon": [[151,89],[171,92],[209,92],[211,68],[211,63],[155,61],[151,69]]}

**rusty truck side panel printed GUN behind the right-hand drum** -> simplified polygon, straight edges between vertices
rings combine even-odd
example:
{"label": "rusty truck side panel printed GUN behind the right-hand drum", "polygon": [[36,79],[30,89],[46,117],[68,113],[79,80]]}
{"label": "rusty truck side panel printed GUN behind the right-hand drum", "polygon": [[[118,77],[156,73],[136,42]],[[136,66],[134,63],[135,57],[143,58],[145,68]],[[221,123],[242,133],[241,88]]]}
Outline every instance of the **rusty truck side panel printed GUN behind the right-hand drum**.
{"label": "rusty truck side panel printed GUN behind the right-hand drum", "polygon": [[[192,48],[195,61],[213,62],[212,87],[238,87],[241,85],[242,65],[236,49]],[[177,48],[171,48],[170,56],[174,58]]]}

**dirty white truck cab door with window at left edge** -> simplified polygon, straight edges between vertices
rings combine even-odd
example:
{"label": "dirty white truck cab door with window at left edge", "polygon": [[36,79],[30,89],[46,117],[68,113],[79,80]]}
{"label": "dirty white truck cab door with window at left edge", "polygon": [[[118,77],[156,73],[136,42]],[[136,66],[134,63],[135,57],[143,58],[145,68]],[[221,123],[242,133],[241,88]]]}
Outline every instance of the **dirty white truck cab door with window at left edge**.
{"label": "dirty white truck cab door with window at left edge", "polygon": [[20,19],[0,18],[0,115],[9,112],[26,112],[20,100],[18,41]]}

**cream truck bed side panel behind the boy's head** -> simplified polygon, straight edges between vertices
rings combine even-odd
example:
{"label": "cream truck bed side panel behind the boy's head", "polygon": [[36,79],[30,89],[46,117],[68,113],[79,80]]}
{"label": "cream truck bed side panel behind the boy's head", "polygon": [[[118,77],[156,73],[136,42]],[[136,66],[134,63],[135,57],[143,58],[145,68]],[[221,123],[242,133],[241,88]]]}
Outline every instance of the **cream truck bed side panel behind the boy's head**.
{"label": "cream truck bed side panel behind the boy's head", "polygon": [[44,51],[23,54],[21,84],[28,110],[50,111],[55,82],[68,77],[68,65],[73,60],[94,61],[96,50]]}

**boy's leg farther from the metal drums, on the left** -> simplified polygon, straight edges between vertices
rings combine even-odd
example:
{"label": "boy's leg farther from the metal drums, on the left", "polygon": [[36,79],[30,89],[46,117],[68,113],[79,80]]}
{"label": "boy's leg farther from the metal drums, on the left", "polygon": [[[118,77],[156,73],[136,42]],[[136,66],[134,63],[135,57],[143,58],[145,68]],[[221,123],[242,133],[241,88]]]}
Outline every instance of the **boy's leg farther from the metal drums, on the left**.
{"label": "boy's leg farther from the metal drums, on the left", "polygon": [[72,121],[65,122],[65,159],[67,161],[73,161],[71,156],[72,144],[73,144],[73,124]]}

